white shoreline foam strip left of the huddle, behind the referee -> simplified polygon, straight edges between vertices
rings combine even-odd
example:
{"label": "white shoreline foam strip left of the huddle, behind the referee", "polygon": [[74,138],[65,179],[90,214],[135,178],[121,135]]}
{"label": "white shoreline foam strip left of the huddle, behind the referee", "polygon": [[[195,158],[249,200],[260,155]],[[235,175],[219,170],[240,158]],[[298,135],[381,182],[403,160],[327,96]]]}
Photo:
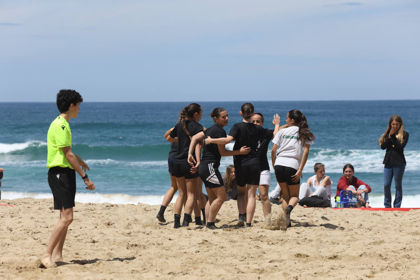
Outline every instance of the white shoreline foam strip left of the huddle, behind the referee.
{"label": "white shoreline foam strip left of the huddle, behind the referee", "polygon": [[[16,191],[2,191],[2,199],[18,199],[32,197],[35,199],[53,198],[51,193],[27,193],[27,192],[16,192]],[[173,196],[171,202],[175,202],[178,195]],[[146,196],[131,196],[128,194],[86,194],[76,193],[74,199],[81,203],[114,203],[114,204],[137,204],[144,203],[150,205],[159,205],[162,203],[163,195],[146,195]]]}

